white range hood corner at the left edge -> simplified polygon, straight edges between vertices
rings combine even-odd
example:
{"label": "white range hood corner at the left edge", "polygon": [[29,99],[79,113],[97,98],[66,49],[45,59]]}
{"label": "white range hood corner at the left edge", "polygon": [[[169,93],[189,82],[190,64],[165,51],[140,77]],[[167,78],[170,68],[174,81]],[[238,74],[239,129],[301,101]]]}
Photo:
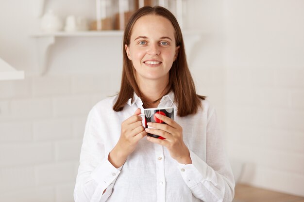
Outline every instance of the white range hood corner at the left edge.
{"label": "white range hood corner at the left edge", "polygon": [[0,80],[24,79],[24,71],[17,71],[14,67],[0,58]]}

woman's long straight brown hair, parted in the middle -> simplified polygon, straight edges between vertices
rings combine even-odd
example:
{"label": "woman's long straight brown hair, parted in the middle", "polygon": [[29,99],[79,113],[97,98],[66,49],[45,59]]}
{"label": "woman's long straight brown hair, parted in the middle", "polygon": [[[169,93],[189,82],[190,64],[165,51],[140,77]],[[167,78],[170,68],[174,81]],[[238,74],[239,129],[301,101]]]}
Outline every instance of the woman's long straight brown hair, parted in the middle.
{"label": "woman's long straight brown hair, parted in the middle", "polygon": [[[145,6],[138,9],[131,16],[128,24],[126,25],[123,36],[123,69],[121,86],[118,94],[118,100],[113,106],[113,109],[115,111],[121,111],[130,98],[132,98],[132,100],[134,99],[134,92],[138,95],[138,97],[141,98],[142,102],[144,103],[144,108],[149,107],[149,104],[151,104],[151,102],[149,103],[147,98],[139,90],[135,78],[135,68],[133,67],[132,61],[129,60],[124,47],[124,45],[130,44],[132,29],[136,20],[146,15],[157,15],[167,18],[172,23],[175,30],[176,46],[180,46],[177,58],[173,62],[169,71],[169,84],[161,94],[163,96],[170,91],[173,91],[175,96],[174,102],[177,104],[178,116],[183,117],[189,114],[195,114],[198,109],[202,107],[201,99],[204,100],[205,96],[196,94],[195,85],[186,61],[182,31],[178,25],[178,22],[169,10],[160,6]],[[156,103],[161,99],[161,97],[152,103]]]}

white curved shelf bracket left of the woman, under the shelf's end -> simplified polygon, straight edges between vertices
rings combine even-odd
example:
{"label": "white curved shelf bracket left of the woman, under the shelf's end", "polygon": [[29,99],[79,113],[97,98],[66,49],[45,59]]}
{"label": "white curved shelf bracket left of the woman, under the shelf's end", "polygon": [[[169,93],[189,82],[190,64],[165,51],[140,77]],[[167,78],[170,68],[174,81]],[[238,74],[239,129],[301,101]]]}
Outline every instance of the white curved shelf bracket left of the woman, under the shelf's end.
{"label": "white curved shelf bracket left of the woman, under the shelf's end", "polygon": [[55,43],[54,36],[37,38],[37,60],[39,75],[45,75],[48,71],[48,58],[51,45]]}

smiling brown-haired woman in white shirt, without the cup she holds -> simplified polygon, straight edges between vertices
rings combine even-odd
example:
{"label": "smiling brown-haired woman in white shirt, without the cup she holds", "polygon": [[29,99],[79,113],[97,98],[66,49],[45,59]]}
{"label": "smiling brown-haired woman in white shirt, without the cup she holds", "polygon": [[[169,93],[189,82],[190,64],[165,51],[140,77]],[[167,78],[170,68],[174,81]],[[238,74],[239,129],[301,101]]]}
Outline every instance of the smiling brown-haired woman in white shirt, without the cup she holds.
{"label": "smiling brown-haired woman in white shirt, without the cup she holds", "polygon": [[[235,182],[216,112],[195,92],[175,17],[139,9],[123,48],[120,93],[88,115],[75,202],[231,202]],[[175,121],[160,115],[167,125],[145,129],[140,115],[156,107],[173,107]]]}

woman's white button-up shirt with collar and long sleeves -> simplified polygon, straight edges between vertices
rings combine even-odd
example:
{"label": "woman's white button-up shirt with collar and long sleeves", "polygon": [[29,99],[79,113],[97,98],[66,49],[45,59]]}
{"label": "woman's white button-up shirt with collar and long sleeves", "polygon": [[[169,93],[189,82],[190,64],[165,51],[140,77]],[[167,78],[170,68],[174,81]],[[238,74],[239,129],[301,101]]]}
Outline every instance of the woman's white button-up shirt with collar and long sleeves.
{"label": "woman's white button-up shirt with collar and long sleeves", "polygon": [[116,169],[108,161],[108,154],[118,142],[121,123],[137,108],[143,112],[141,99],[136,94],[134,98],[119,112],[112,109],[117,96],[91,109],[81,148],[75,202],[231,202],[234,177],[215,109],[207,100],[202,100],[203,109],[186,117],[177,116],[172,92],[158,105],[174,108],[192,164],[178,163],[166,147],[146,138],[139,140],[122,167]]}

